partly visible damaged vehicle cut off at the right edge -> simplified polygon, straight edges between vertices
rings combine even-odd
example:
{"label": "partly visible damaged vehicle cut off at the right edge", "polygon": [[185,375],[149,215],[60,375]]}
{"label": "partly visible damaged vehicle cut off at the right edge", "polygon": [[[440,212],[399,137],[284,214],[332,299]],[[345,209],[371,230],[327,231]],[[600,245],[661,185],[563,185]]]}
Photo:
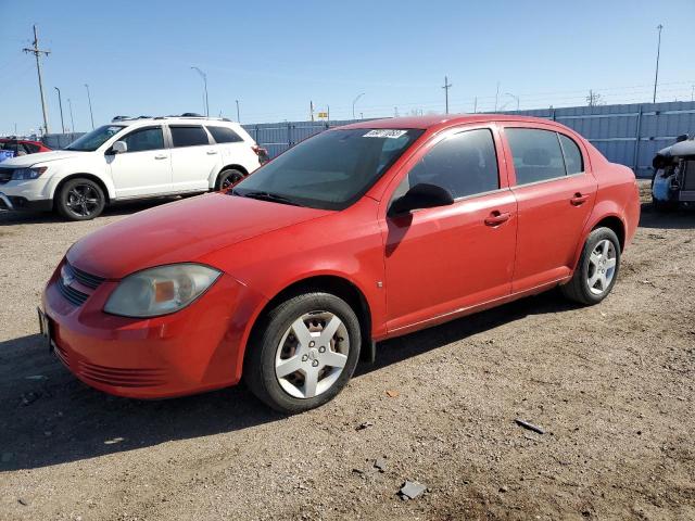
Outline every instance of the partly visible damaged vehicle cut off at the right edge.
{"label": "partly visible damaged vehicle cut off at the right edge", "polygon": [[687,135],[659,150],[654,161],[652,203],[660,212],[695,206],[695,140]]}

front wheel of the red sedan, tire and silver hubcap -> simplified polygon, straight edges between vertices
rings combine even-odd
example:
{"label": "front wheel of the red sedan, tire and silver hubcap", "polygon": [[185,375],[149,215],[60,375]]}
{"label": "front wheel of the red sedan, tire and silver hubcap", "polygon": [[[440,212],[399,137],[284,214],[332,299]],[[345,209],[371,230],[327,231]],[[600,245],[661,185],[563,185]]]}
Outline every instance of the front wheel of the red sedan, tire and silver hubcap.
{"label": "front wheel of the red sedan, tire and silver hubcap", "polygon": [[359,320],[342,298],[321,292],[298,294],[254,328],[243,378],[254,395],[280,412],[309,410],[345,386],[357,366],[361,343]]}

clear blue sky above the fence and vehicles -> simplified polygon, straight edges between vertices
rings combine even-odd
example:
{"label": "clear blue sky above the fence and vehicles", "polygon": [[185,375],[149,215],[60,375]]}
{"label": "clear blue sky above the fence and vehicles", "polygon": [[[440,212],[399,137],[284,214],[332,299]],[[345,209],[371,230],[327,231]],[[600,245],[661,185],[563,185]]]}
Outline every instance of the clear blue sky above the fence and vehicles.
{"label": "clear blue sky above the fence and vehicles", "polygon": [[51,54],[43,77],[52,131],[90,127],[116,114],[203,112],[242,123],[303,120],[309,100],[349,118],[585,104],[652,98],[656,26],[664,24],[658,100],[690,100],[695,84],[695,1],[130,1],[0,0],[0,134],[38,128],[33,58],[22,52],[39,28]]}

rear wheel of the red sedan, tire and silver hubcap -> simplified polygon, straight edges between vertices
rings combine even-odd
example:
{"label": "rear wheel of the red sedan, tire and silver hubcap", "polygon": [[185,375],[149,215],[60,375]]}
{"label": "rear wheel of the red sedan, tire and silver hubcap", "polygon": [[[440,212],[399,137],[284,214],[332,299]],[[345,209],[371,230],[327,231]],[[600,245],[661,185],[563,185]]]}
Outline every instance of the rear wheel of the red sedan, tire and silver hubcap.
{"label": "rear wheel of the red sedan, tire and silver hubcap", "polygon": [[[605,255],[604,246],[608,247]],[[574,275],[567,284],[560,287],[560,291],[580,304],[598,304],[612,290],[619,270],[618,236],[610,228],[596,228],[586,238]]]}

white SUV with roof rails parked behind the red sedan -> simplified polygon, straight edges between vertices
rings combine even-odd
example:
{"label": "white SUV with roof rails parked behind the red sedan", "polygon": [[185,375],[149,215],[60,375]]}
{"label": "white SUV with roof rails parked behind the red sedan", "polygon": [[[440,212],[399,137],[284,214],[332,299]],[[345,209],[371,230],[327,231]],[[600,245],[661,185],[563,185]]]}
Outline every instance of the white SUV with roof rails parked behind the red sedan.
{"label": "white SUV with roof rails parked behind the red sedan", "polygon": [[226,189],[266,160],[226,119],[116,117],[64,150],[0,163],[0,208],[92,219],[115,201]]}

